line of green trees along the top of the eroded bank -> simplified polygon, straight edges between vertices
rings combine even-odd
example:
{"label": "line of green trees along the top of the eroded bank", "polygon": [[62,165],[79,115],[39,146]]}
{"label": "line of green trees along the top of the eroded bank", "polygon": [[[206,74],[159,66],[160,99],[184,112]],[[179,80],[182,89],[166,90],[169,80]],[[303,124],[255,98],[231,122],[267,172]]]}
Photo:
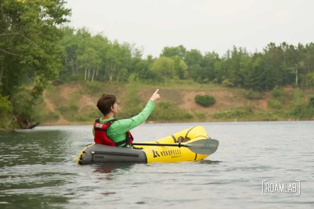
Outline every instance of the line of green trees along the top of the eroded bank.
{"label": "line of green trees along the top of the eroded bank", "polygon": [[183,45],[165,46],[159,57],[148,55],[129,43],[111,41],[102,33],[91,35],[86,28],[62,28],[64,48],[62,80],[127,81],[192,79],[254,91],[276,85],[314,86],[314,44],[294,46],[269,43],[261,52],[246,48],[228,49],[224,55]]}

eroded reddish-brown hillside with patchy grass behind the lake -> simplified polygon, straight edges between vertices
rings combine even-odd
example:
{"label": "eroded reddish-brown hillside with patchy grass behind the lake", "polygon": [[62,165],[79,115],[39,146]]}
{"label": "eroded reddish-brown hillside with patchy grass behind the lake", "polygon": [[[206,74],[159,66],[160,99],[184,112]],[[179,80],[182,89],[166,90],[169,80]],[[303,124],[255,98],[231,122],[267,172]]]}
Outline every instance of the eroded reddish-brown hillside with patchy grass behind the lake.
{"label": "eroded reddish-brown hillside with patchy grass behind the lake", "polygon": [[[140,104],[137,109],[134,110],[138,113],[140,108],[144,107],[152,93],[156,90],[156,87],[141,85],[138,86],[136,91],[132,92],[129,91],[130,88],[132,88],[132,85],[130,84],[122,85],[100,83],[76,83],[50,86],[43,92],[43,106],[46,113],[51,114],[54,117],[49,120],[44,120],[42,124],[70,125],[92,123],[95,121],[95,118],[100,116],[100,112],[96,107],[96,102],[103,93],[113,93],[117,96],[119,112],[130,112],[130,108],[133,108],[134,102],[136,103],[139,101]],[[293,95],[291,96],[291,94],[293,94],[294,89],[286,88],[285,92],[287,95],[290,94],[290,99],[293,98]],[[254,112],[256,114],[260,114],[259,112],[266,114],[268,110],[273,109],[268,106],[268,102],[274,99],[271,91],[263,93],[259,99],[247,99],[245,92],[242,89],[213,88],[213,90],[211,90],[210,87],[208,87],[208,89],[203,89],[202,91],[193,90],[191,88],[186,90],[184,89],[184,86],[181,89],[160,87],[159,93],[161,98],[156,102],[157,106],[158,103],[164,103],[163,107],[167,107],[168,105],[173,108],[173,111],[181,111],[177,112],[177,114],[182,114],[182,111],[188,114],[186,120],[183,120],[182,117],[179,119],[173,117],[174,119],[171,120],[171,122],[224,121],[241,120],[241,118],[245,120],[251,117],[248,117],[248,115],[254,115]],[[208,94],[213,96],[216,100],[215,104],[210,107],[202,107],[194,101],[194,97],[198,94]],[[308,98],[314,95],[314,92],[312,90],[308,90],[304,91],[303,94],[305,96],[304,100],[307,102]],[[126,101],[132,101],[132,105],[128,106],[127,103],[130,102]],[[290,103],[291,102],[287,97],[283,100],[282,105],[285,106]],[[136,105],[137,104],[138,103],[136,103]],[[217,112],[226,112],[228,117],[225,117],[224,119],[219,116],[219,118],[217,116]],[[163,112],[163,114],[167,113]],[[122,115],[126,117],[128,116],[127,114]],[[166,119],[158,120],[159,122],[169,121],[169,118],[165,118]],[[258,118],[253,118],[253,120],[258,120]],[[265,118],[261,118],[261,120],[265,120]]]}

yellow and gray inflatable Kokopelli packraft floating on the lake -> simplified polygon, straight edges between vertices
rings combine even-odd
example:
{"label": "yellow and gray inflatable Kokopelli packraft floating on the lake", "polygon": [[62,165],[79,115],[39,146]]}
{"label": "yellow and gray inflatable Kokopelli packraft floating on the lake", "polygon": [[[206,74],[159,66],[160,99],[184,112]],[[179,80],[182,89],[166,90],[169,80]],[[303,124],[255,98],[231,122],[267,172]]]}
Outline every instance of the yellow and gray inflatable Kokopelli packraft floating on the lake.
{"label": "yellow and gray inflatable Kokopelli packraft floating on the lake", "polygon": [[[183,142],[177,143],[178,138],[184,139]],[[214,153],[219,142],[211,139],[202,126],[195,126],[156,141],[133,142],[133,145],[142,149],[90,144],[80,152],[77,163],[78,165],[87,165],[197,161]]]}

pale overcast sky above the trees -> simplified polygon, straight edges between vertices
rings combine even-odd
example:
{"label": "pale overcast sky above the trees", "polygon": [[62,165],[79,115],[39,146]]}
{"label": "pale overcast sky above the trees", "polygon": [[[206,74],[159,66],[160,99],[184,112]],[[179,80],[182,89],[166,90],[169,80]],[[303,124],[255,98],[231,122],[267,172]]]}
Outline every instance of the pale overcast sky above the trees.
{"label": "pale overcast sky above the trees", "polygon": [[313,0],[68,0],[71,26],[159,56],[184,45],[223,55],[233,45],[261,51],[269,42],[314,41]]}

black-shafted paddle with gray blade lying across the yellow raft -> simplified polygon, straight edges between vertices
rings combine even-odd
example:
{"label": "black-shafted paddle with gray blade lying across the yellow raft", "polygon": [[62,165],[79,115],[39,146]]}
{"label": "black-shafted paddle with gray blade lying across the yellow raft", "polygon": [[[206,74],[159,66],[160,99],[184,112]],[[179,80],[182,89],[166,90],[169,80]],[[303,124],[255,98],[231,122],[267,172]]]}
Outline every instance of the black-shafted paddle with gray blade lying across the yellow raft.
{"label": "black-shafted paddle with gray blade lying across the yellow raft", "polygon": [[186,142],[187,144],[154,144],[154,143],[133,143],[132,145],[142,146],[167,146],[167,147],[186,147],[197,154],[213,154],[219,146],[219,141],[216,139],[200,139],[197,141]]}

